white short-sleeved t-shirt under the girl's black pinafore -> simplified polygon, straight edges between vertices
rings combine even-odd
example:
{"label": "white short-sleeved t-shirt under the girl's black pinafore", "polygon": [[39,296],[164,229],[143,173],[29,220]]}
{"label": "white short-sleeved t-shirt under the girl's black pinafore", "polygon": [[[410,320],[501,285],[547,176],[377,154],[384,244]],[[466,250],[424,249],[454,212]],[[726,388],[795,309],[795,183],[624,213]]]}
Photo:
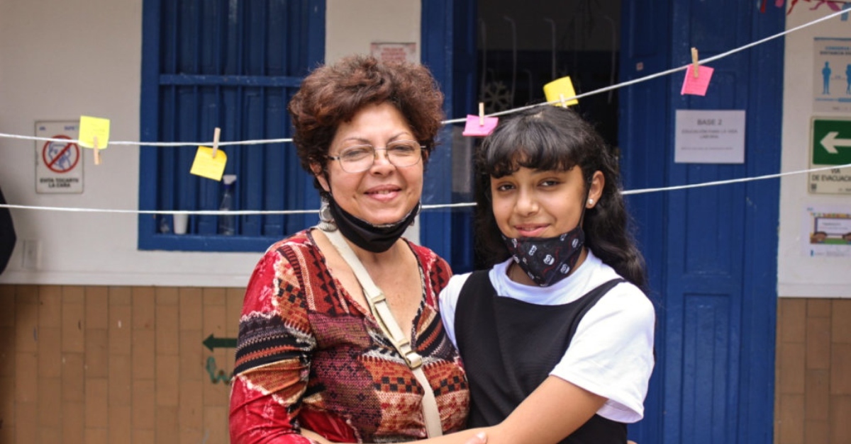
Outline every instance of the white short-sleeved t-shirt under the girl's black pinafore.
{"label": "white short-sleeved t-shirt under the girl's black pinafore", "polygon": [[[620,277],[589,251],[574,274],[550,287],[534,287],[508,278],[511,260],[494,265],[488,272],[490,283],[501,297],[529,304],[568,304],[603,282]],[[469,276],[452,276],[440,293],[443,326],[456,347],[455,307]],[[550,374],[607,398],[597,411],[603,418],[637,422],[644,415],[644,397],[653,372],[654,324],[655,312],[647,296],[631,283],[622,282],[585,313],[568,350]]]}

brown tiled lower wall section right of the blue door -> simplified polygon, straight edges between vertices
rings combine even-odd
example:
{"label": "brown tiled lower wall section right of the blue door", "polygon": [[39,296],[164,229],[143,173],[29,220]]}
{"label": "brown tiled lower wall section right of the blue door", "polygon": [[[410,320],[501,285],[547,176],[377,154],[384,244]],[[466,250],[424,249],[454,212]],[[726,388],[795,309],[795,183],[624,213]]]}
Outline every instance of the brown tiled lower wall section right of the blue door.
{"label": "brown tiled lower wall section right of the blue door", "polygon": [[851,299],[778,303],[774,442],[851,442]]}

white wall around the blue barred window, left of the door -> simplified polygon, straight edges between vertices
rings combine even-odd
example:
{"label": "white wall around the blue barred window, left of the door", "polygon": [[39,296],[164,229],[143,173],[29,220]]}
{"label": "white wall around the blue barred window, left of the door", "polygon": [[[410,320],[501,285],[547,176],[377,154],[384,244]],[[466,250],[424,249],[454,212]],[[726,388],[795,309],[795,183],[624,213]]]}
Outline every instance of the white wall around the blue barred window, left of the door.
{"label": "white wall around the blue barred window, left of the door", "polygon": [[[420,3],[328,0],[328,59],[367,53],[372,41],[417,42]],[[142,0],[0,0],[0,133],[34,134],[34,122],[111,120],[111,140],[139,140]],[[353,20],[357,17],[357,20]],[[0,188],[9,203],[135,209],[139,150],[112,146],[84,158],[82,194],[37,194],[35,144],[0,138]],[[243,287],[260,253],[136,249],[133,214],[13,209],[18,245],[0,283]],[[22,241],[41,243],[37,270]]]}

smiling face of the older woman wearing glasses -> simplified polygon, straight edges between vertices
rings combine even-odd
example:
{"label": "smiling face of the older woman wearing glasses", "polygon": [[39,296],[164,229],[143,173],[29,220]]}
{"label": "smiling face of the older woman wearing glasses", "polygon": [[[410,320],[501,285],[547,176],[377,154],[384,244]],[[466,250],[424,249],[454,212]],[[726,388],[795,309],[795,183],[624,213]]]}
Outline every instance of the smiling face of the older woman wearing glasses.
{"label": "smiling face of the older woman wearing glasses", "polygon": [[328,156],[354,145],[373,145],[382,149],[372,168],[361,173],[346,173],[340,162],[329,160],[327,179],[318,165],[313,166],[325,191],[334,196],[340,208],[370,224],[392,224],[402,220],[420,202],[423,190],[423,162],[399,168],[387,161],[383,148],[395,140],[415,140],[402,113],[388,103],[367,105],[349,122],[337,128]]}

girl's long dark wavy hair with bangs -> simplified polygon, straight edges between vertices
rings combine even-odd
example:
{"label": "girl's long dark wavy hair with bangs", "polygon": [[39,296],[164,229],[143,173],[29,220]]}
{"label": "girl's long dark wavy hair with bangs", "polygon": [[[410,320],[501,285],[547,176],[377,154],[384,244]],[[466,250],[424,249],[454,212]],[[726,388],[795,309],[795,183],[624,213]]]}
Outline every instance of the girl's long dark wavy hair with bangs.
{"label": "girl's long dark wavy hair with bangs", "polygon": [[476,151],[477,248],[494,265],[508,259],[490,202],[490,178],[525,167],[567,171],[582,169],[585,187],[595,171],[605,177],[603,195],[585,209],[585,246],[627,281],[645,289],[644,258],[627,229],[629,214],[620,194],[618,159],[590,123],[569,108],[539,106],[517,112],[500,122]]}

